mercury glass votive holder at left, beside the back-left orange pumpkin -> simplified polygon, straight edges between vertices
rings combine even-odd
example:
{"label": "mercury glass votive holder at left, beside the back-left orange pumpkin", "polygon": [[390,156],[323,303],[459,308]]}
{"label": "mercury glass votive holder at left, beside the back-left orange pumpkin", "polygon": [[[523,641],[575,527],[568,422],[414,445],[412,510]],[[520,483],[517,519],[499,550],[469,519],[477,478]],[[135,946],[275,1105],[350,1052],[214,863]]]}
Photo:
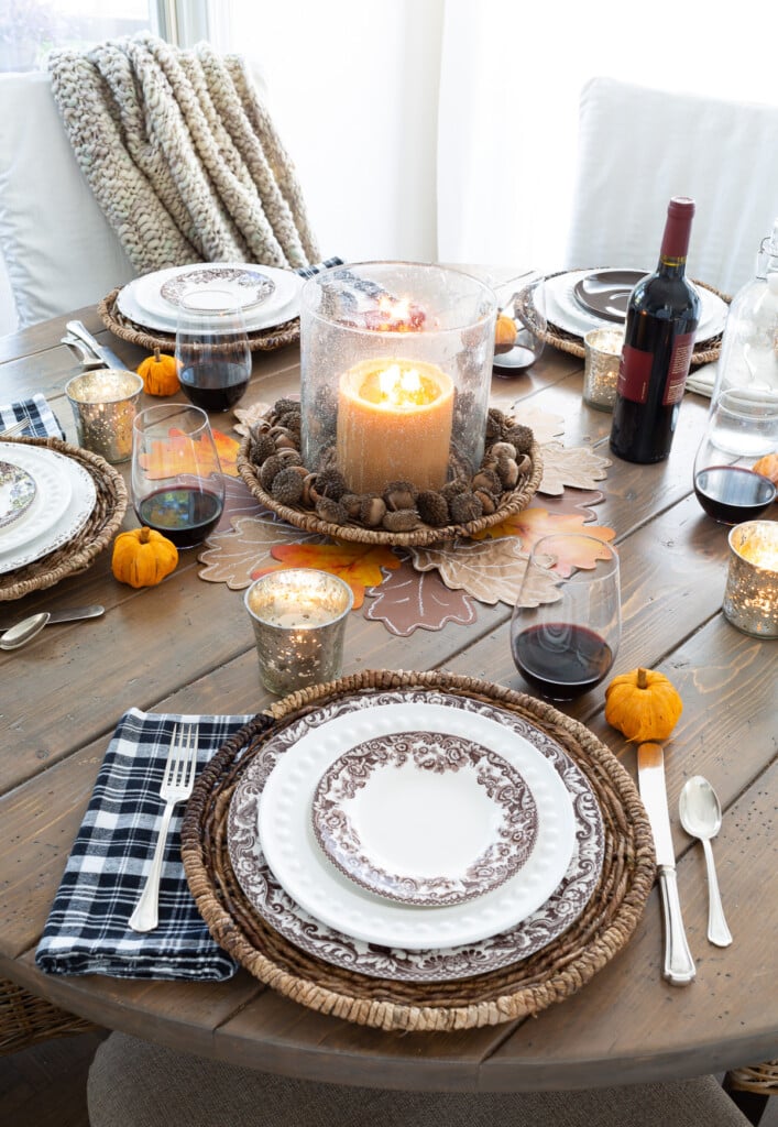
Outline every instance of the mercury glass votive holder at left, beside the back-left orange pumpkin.
{"label": "mercury glass votive holder at left, beside the back-left orange pumpkin", "polygon": [[132,424],[143,380],[135,372],[99,369],[74,375],[65,393],[76,420],[79,445],[107,462],[132,458]]}

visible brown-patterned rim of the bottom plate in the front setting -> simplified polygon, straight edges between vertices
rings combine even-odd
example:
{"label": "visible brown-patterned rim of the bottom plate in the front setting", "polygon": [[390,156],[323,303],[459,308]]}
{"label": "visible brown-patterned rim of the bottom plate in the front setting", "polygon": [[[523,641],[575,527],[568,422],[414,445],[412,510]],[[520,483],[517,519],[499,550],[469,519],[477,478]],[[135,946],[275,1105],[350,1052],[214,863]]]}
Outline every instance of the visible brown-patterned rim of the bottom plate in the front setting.
{"label": "visible brown-patterned rim of the bottom plate in the front setting", "polygon": [[[259,801],[275,765],[311,730],[339,716],[382,704],[435,703],[493,719],[522,736],[551,764],[573,804],[575,844],[562,880],[540,907],[514,926],[475,943],[423,950],[363,943],[306,912],[281,886],[264,855]],[[497,970],[542,950],[562,935],[591,899],[602,870],[604,829],[596,798],[562,747],[530,721],[485,701],[445,692],[372,691],[328,702],[271,737],[242,772],[228,816],[228,849],[247,900],[267,924],[301,951],[345,970],[397,982],[444,982]],[[436,911],[436,909],[427,909]]]}

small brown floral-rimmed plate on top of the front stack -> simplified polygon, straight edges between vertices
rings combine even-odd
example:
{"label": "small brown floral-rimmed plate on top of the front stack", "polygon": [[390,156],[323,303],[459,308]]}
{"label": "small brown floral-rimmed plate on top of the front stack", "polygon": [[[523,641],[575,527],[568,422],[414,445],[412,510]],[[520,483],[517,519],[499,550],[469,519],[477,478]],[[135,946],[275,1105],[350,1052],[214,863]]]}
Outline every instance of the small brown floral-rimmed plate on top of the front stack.
{"label": "small brown floral-rimmed plate on top of the front stack", "polygon": [[389,733],[319,781],[313,834],[355,884],[405,904],[462,904],[531,857],[538,809],[502,755],[448,733]]}

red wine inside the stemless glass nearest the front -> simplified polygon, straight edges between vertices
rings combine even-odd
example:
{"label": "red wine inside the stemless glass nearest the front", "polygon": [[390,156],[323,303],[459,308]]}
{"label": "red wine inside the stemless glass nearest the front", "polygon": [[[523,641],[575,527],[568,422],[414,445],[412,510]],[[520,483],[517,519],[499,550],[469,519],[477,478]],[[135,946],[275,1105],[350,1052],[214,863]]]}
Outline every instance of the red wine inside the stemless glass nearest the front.
{"label": "red wine inside the stemless glass nearest the front", "polygon": [[514,633],[513,660],[528,684],[550,700],[572,700],[598,685],[613,664],[604,638],[587,627],[541,622]]}

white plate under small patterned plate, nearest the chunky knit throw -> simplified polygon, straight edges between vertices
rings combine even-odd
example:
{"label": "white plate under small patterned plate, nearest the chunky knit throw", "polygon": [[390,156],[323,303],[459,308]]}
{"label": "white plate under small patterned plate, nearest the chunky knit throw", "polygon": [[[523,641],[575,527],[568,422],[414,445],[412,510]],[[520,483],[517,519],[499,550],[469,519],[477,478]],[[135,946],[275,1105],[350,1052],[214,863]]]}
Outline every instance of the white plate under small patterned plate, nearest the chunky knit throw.
{"label": "white plate under small patterned plate, nearest the chunky knit throw", "polygon": [[[256,270],[273,283],[273,294],[267,301],[253,309],[246,309],[244,320],[248,332],[282,325],[299,313],[300,291],[306,279],[293,270],[281,270],[274,266],[253,266],[247,263],[220,263],[222,269]],[[171,266],[133,278],[124,285],[116,298],[116,304],[125,317],[148,328],[175,332],[177,310],[162,296],[162,286],[177,282],[191,274],[195,267]]]}

